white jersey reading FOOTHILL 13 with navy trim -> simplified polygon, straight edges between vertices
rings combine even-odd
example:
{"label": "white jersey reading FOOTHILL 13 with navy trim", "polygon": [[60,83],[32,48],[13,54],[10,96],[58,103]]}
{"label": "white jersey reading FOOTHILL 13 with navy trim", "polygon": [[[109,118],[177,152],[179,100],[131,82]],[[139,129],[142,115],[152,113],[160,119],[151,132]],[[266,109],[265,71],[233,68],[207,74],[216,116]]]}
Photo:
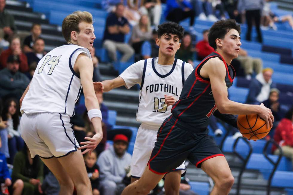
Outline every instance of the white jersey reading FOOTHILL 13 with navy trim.
{"label": "white jersey reading FOOTHILL 13 with navy trim", "polygon": [[128,67],[120,75],[126,87],[141,85],[136,120],[157,130],[171,114],[172,106],[165,104],[164,95],[179,99],[192,71],[192,65],[180,59],[175,59],[173,65],[159,65],[158,58],[150,58]]}

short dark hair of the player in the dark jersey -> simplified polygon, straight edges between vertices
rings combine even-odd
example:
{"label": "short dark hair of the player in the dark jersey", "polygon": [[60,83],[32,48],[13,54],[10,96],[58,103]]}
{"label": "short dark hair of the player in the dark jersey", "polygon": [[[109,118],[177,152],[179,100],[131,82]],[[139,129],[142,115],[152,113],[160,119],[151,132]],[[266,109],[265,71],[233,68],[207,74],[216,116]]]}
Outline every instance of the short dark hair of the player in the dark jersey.
{"label": "short dark hair of the player in the dark jersey", "polygon": [[240,24],[236,23],[235,20],[219,20],[213,24],[210,28],[208,35],[208,41],[211,47],[215,50],[217,49],[216,39],[223,39],[229,30],[235,29],[238,31],[239,35],[241,33]]}

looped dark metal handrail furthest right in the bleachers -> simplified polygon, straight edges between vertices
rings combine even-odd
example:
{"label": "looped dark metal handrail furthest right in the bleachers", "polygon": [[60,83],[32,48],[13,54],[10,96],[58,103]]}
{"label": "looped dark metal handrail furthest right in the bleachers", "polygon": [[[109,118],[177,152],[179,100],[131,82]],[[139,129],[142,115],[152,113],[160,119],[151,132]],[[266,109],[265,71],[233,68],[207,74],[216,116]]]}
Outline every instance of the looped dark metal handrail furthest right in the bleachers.
{"label": "looped dark metal handrail furthest right in the bleachers", "polygon": [[[267,154],[267,148],[268,148],[268,145],[270,143],[273,143],[274,145],[277,146],[277,148],[280,150],[280,153],[279,153],[279,157],[277,159],[276,162],[274,162]],[[268,179],[268,188],[267,188],[267,195],[270,195],[271,194],[271,182],[272,182],[272,179],[273,179],[273,176],[274,176],[274,173],[276,172],[277,170],[277,167],[281,161],[281,158],[283,156],[283,151],[282,151],[282,148],[273,140],[273,139],[270,139],[266,142],[265,144],[265,147],[263,148],[263,155],[265,155],[265,158],[272,164],[274,165],[274,168],[273,168],[273,171],[271,172],[270,174],[270,177]]]}

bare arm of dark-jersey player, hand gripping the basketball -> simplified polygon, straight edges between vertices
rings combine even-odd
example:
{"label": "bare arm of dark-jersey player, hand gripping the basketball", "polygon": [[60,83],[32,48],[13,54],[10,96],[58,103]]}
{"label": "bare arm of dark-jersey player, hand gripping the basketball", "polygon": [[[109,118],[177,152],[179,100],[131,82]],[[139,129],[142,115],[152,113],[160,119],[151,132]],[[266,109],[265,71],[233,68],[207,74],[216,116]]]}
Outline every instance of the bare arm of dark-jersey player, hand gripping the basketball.
{"label": "bare arm of dark-jersey player, hand gripping the basketball", "polygon": [[[267,127],[273,126],[274,116],[270,109],[263,105],[247,105],[228,99],[225,83],[226,68],[219,58],[212,58],[200,70],[201,75],[210,79],[217,108],[222,114],[259,114],[267,122]],[[203,73],[203,74],[202,74]]]}

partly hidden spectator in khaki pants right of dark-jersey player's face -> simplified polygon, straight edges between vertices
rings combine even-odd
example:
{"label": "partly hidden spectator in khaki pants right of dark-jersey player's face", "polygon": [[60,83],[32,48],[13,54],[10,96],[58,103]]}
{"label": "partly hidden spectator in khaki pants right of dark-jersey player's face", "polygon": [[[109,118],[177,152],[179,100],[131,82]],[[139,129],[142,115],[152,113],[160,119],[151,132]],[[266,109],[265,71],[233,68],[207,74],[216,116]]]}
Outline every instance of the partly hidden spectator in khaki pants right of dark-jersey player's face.
{"label": "partly hidden spectator in khaki pants right of dark-jersey player's face", "polygon": [[263,69],[262,59],[248,56],[247,51],[244,49],[240,48],[238,57],[236,59],[240,62],[240,65],[244,69],[245,77],[248,80],[251,80],[253,71],[256,74],[259,74]]}

